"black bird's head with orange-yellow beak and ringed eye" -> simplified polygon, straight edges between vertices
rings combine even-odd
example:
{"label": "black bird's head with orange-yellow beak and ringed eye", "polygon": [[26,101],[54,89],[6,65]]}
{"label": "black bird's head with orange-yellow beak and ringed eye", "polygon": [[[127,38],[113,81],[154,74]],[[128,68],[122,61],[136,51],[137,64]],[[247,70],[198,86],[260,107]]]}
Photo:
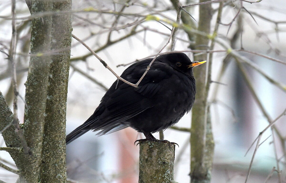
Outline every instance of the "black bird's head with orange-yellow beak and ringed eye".
{"label": "black bird's head with orange-yellow beak and ringed eye", "polygon": [[164,63],[174,69],[192,75],[192,68],[205,63],[206,61],[191,61],[184,53],[167,53],[160,56]]}

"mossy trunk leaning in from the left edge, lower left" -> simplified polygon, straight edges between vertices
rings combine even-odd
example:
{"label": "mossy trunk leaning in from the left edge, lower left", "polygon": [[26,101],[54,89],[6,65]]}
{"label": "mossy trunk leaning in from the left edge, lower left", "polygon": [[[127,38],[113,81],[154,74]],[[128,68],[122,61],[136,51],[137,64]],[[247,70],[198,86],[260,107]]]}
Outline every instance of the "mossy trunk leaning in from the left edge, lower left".
{"label": "mossy trunk leaning in from the left edge, lower left", "polygon": [[[0,131],[3,130],[7,125],[13,121],[13,113],[10,110],[3,94],[0,91]],[[7,147],[20,147],[20,139],[15,132],[13,125],[10,125],[3,133],[5,144]],[[13,158],[17,167],[19,167],[18,152],[9,151],[9,154]]]}

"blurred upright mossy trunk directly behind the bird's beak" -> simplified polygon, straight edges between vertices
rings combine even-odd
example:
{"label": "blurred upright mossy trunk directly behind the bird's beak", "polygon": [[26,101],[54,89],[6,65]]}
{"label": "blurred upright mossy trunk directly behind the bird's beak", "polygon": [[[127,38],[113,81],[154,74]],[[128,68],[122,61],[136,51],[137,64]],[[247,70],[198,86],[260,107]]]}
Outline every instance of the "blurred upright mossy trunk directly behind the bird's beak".
{"label": "blurred upright mossy trunk directly behind the bird's beak", "polygon": [[[200,0],[205,2],[207,0]],[[211,4],[200,5],[199,7],[199,22],[198,31],[210,33],[210,21],[212,19]],[[209,39],[202,36],[196,36],[196,49],[207,49]],[[198,55],[194,57],[195,61],[207,60],[207,55]],[[194,69],[194,76],[196,78],[196,99],[192,107],[192,133],[191,133],[191,182],[210,182],[210,170],[212,164],[206,164],[204,156],[206,156],[206,127],[207,127],[207,96],[206,91],[207,82],[207,64]],[[210,124],[210,121],[208,123]],[[211,128],[210,128],[211,130]],[[210,131],[211,133],[211,131]],[[210,137],[208,135],[208,137]],[[208,166],[206,166],[208,165]]]}

